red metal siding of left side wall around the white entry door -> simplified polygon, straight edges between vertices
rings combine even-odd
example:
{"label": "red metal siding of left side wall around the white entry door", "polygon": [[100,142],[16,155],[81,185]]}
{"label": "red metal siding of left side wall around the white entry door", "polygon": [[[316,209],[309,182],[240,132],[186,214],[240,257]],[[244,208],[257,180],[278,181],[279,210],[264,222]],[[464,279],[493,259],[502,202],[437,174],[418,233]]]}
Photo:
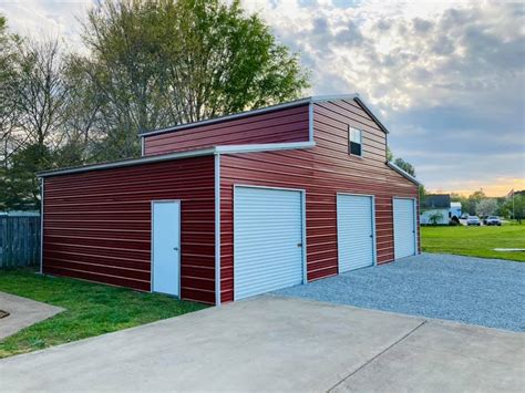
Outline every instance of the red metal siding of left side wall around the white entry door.
{"label": "red metal siding of left side wall around the white entry door", "polygon": [[181,296],[215,302],[214,157],[45,178],[43,271],[151,283],[151,201],[181,199]]}

